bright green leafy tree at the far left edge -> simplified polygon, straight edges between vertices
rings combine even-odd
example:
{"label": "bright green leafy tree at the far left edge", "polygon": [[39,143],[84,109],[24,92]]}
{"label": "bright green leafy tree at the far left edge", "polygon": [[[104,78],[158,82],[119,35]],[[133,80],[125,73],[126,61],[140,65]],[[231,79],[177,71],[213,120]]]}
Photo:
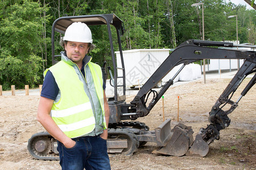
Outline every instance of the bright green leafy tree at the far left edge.
{"label": "bright green leafy tree at the far left edge", "polygon": [[42,78],[42,8],[38,2],[19,1],[7,6],[0,22],[0,84],[34,87]]}

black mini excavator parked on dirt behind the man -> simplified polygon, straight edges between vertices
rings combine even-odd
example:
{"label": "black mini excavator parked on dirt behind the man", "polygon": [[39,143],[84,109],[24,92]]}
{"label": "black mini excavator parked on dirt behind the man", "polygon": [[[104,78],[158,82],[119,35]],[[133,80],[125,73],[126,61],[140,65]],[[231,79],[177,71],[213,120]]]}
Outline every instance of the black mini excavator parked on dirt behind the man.
{"label": "black mini excavator parked on dirt behind the man", "polygon": [[[160,150],[158,154],[183,156],[196,155],[205,156],[208,154],[209,145],[214,140],[220,138],[220,130],[230,125],[228,114],[232,113],[238,107],[238,102],[254,86],[256,82],[256,57],[254,51],[230,50],[218,47],[233,47],[230,42],[187,40],[177,46],[177,48],[166,58],[158,67],[154,74],[148,78],[147,82],[138,91],[138,94],[130,103],[126,103],[126,84],[125,84],[125,66],[123,62],[122,47],[120,37],[125,31],[123,22],[115,14],[102,15],[83,15],[83,16],[65,16],[55,20],[52,25],[52,63],[58,62],[60,55],[56,55],[55,33],[65,33],[67,27],[73,22],[82,22],[89,27],[93,25],[106,25],[109,34],[110,51],[113,61],[113,76],[110,82],[113,82],[114,96],[108,99],[110,108],[110,120],[108,129],[108,152],[132,155],[138,147],[145,145],[147,142],[154,142]],[[121,56],[122,67],[117,67],[113,37],[111,27],[117,32],[117,44]],[[254,46],[255,47],[255,46]],[[174,79],[180,71],[189,63],[201,59],[244,59],[243,65],[234,75],[224,92],[218,97],[212,110],[209,112],[209,125],[201,128],[193,139],[193,130],[184,124],[177,124],[171,129],[171,120],[167,119],[158,128],[150,131],[148,126],[143,122],[135,121],[138,117],[147,116],[154,105],[163,96],[164,92],[174,84]],[[164,78],[177,65],[182,65],[173,78],[168,80],[159,92],[152,90],[160,80]],[[117,70],[122,71],[122,76],[117,75]],[[104,81],[106,82],[105,65],[102,67]],[[244,88],[241,96],[233,101],[232,96],[238,86],[247,75],[254,74],[250,82]],[[118,80],[122,80],[120,85]],[[118,88],[122,89],[122,94],[118,94]],[[151,94],[152,100],[147,104],[148,96]],[[229,106],[223,110],[224,106]],[[126,120],[126,121],[124,121]],[[131,120],[131,121],[127,121]],[[57,151],[57,141],[49,133],[41,132],[33,134],[28,140],[28,151],[35,159],[57,160],[59,152]]]}

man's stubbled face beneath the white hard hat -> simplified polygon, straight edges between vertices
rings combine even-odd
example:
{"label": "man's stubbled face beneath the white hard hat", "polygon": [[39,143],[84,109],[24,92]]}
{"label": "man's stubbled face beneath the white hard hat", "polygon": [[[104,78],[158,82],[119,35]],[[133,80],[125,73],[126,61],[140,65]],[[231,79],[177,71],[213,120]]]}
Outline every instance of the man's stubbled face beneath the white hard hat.
{"label": "man's stubbled face beneath the white hard hat", "polygon": [[68,41],[67,44],[65,44],[67,57],[75,63],[82,62],[82,59],[84,59],[85,54],[88,53],[88,49],[89,45],[86,42]]}

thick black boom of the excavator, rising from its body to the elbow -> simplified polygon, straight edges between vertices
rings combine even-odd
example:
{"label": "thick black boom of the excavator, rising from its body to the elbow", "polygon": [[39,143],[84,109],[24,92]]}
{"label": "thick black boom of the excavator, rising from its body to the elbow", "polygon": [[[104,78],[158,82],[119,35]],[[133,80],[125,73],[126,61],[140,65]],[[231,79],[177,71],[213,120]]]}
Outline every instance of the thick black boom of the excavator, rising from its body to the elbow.
{"label": "thick black boom of the excavator, rising from its body to the elbow", "polygon": [[[218,41],[187,40],[183,42],[183,44],[179,45],[174,52],[172,52],[170,56],[166,58],[162,65],[158,67],[155,73],[152,74],[152,76],[143,85],[141,90],[139,90],[133,101],[131,101],[131,104],[134,105],[134,107],[132,107],[133,111],[135,109],[137,112],[137,114],[131,116],[131,118],[135,120],[138,117],[147,116],[158,100],[174,83],[175,77],[180,73],[185,65],[188,65],[189,63],[199,61],[200,59],[246,59],[245,63],[241,66],[240,71],[238,71],[232,82],[230,82],[232,84],[236,84],[236,86],[228,86],[219,100],[221,100],[221,98],[225,99],[230,91],[234,91],[234,89],[239,86],[238,82],[240,82],[243,76],[255,69],[255,52],[241,52],[239,50],[219,49],[208,46],[233,47],[234,45],[230,42]],[[155,85],[164,78],[164,76],[174,69],[175,66],[180,64],[183,64],[183,66],[181,66],[173,78],[164,84],[159,92],[152,90],[152,88],[154,88]],[[251,86],[253,86],[253,84]],[[154,97],[150,103],[146,105],[148,95],[151,94],[151,92],[154,93]],[[231,101],[229,101],[229,103],[230,102]]]}

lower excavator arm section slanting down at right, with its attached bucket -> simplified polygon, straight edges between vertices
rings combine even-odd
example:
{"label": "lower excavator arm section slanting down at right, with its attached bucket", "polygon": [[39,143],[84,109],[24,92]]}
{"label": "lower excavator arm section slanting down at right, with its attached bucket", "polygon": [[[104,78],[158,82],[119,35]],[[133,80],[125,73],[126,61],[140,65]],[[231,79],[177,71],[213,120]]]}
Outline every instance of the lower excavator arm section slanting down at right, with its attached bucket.
{"label": "lower excavator arm section slanting down at right, with its attached bucket", "polygon": [[[231,122],[228,114],[232,113],[234,109],[238,107],[238,102],[246,95],[250,88],[254,86],[256,83],[256,74],[254,74],[253,78],[251,78],[250,82],[241,92],[237,101],[232,101],[232,96],[236,92],[238,86],[242,83],[243,79],[245,79],[247,75],[255,73],[255,68],[255,59],[253,62],[245,61],[243,63],[240,70],[238,70],[237,74],[228,84],[224,92],[222,92],[220,97],[218,97],[218,100],[209,112],[208,120],[210,125],[207,125],[207,128],[200,129],[199,133],[196,135],[193,145],[189,148],[186,155],[205,156],[208,153],[210,143],[215,139],[220,139],[220,130],[227,128]],[[226,111],[223,109],[225,105],[230,105],[230,108]]]}

